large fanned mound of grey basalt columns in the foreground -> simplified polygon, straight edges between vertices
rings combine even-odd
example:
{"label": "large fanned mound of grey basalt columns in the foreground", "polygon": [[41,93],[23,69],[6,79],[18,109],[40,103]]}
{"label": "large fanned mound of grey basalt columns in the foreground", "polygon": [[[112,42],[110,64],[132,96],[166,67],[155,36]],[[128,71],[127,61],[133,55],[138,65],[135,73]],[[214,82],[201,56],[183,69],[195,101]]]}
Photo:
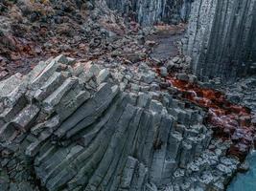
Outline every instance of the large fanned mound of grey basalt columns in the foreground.
{"label": "large fanned mound of grey basalt columns in the foreground", "polygon": [[223,190],[239,162],[204,112],[116,70],[59,55],[0,83],[1,190]]}

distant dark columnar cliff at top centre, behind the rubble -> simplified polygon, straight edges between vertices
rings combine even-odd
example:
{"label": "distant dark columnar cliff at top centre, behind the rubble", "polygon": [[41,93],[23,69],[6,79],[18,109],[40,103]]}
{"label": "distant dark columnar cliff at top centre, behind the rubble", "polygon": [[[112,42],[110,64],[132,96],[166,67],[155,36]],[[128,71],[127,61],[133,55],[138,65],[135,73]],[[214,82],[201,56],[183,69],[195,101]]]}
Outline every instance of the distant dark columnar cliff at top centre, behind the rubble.
{"label": "distant dark columnar cliff at top centre, behind the rubble", "polygon": [[130,16],[143,26],[188,20],[193,0],[106,0],[108,7]]}

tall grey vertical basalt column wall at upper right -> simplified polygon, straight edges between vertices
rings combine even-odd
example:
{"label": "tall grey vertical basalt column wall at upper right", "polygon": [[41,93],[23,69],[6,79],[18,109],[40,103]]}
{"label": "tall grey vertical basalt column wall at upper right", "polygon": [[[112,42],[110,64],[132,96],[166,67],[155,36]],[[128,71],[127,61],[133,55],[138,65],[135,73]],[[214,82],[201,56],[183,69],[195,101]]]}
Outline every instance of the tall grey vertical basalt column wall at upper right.
{"label": "tall grey vertical basalt column wall at upper right", "polygon": [[256,1],[198,0],[192,5],[185,53],[198,76],[234,79],[255,73]]}

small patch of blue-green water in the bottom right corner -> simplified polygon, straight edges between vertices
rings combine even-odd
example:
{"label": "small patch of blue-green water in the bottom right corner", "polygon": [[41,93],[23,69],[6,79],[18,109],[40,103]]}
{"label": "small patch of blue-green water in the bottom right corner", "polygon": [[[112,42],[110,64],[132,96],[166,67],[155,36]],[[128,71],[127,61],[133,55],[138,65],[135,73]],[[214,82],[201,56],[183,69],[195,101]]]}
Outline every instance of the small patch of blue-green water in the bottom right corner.
{"label": "small patch of blue-green water in the bottom right corner", "polygon": [[227,191],[256,191],[256,152],[247,157],[250,169],[248,172],[239,173],[231,182]]}

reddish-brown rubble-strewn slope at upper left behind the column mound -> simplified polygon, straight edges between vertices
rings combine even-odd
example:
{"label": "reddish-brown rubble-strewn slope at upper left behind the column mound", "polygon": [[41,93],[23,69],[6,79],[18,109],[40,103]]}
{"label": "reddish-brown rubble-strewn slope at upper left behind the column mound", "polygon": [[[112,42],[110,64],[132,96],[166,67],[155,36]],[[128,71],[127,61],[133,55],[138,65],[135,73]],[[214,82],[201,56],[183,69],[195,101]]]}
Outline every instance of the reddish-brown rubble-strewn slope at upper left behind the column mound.
{"label": "reddish-brown rubble-strewn slope at upper left behind the column mound", "polygon": [[0,20],[0,79],[59,53],[99,56],[126,31],[104,1],[4,0]]}

